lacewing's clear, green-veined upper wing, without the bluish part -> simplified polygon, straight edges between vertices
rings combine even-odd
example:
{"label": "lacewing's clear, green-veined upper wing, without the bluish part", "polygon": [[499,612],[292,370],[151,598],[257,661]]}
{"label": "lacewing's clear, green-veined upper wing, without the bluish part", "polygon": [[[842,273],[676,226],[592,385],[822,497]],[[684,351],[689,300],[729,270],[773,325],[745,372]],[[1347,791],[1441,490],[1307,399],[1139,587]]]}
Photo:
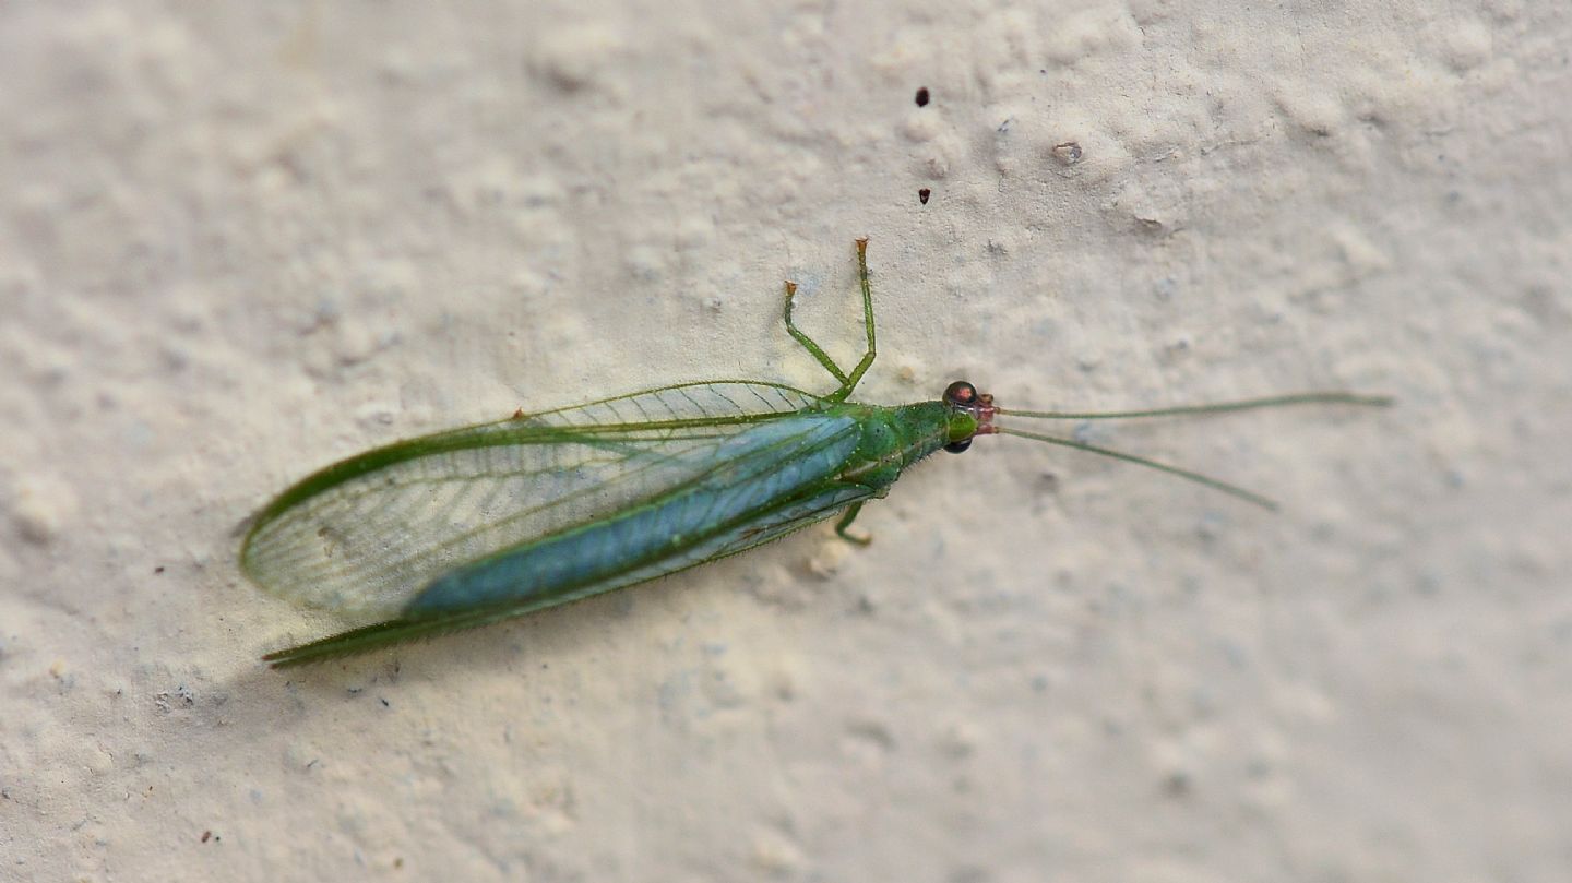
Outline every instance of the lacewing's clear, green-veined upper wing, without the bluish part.
{"label": "lacewing's clear, green-veined upper wing, without the bluish part", "polygon": [[241,566],[297,603],[390,616],[459,564],[693,481],[726,438],[817,404],[777,383],[684,383],[398,442],[285,490]]}

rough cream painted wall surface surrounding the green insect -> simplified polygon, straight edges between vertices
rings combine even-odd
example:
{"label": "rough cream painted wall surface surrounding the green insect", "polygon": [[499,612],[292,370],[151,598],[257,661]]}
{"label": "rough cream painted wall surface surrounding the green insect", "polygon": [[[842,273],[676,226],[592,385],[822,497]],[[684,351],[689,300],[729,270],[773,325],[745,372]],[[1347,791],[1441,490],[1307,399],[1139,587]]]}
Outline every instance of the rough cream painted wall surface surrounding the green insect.
{"label": "rough cream painted wall surface surrounding the green insect", "polygon": [[[1572,877],[1572,13],[0,9],[0,878]],[[926,88],[929,101],[915,96]],[[926,204],[920,193],[926,190]],[[956,376],[827,529],[280,677],[241,522],[652,382]]]}

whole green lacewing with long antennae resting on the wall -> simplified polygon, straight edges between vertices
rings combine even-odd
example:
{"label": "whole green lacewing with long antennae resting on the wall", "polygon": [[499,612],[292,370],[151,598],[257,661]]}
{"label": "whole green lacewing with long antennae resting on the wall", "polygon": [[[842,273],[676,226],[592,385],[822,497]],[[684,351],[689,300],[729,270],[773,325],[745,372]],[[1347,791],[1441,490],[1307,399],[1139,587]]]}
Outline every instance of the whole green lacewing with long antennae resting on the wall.
{"label": "whole green lacewing with long antennae resting on the wall", "polygon": [[857,240],[868,349],[843,371],[792,322],[786,332],[835,377],[827,394],[766,380],[674,383],[395,442],[322,468],[256,515],[241,569],[266,591],[373,625],[263,657],[275,668],[500,622],[737,555],[839,515],[935,451],[1016,435],[1138,463],[1258,506],[1242,487],[1020,420],[1203,415],[1303,404],[1385,405],[1382,396],[1298,393],[1132,412],[1005,409],[965,380],[940,401],[850,401],[874,363],[868,240]]}

